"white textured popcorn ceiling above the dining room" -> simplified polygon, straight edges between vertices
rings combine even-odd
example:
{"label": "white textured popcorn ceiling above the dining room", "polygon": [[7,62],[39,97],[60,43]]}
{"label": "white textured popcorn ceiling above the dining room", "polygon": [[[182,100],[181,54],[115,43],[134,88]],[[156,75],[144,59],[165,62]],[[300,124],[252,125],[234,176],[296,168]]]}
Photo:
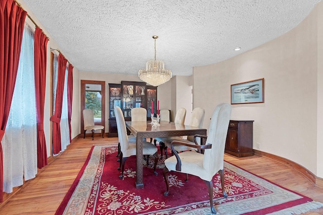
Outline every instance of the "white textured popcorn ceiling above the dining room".
{"label": "white textured popcorn ceiling above the dining room", "polygon": [[[147,60],[173,76],[220,62],[297,26],[320,0],[24,0],[80,71],[138,74]],[[234,51],[235,47],[242,47]]]}

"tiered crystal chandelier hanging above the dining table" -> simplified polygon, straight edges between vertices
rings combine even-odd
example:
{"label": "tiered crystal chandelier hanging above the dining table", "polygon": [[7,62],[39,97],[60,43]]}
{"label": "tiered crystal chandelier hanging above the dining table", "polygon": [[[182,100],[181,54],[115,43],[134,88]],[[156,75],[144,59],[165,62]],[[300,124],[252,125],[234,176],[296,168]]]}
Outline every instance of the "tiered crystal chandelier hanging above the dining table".
{"label": "tiered crystal chandelier hanging above the dining table", "polygon": [[165,68],[163,61],[156,60],[156,39],[158,36],[152,36],[152,38],[155,40],[155,59],[146,62],[146,68],[139,70],[138,77],[152,86],[158,86],[171,80],[172,71]]}

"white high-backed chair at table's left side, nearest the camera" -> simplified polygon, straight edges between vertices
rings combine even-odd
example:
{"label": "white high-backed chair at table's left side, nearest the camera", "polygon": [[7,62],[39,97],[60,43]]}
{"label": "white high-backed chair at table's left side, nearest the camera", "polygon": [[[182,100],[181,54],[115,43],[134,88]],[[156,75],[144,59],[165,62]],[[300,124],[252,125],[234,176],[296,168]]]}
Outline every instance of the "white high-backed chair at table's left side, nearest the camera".
{"label": "white high-backed chair at table's left side, nearest the camera", "polygon": [[[129,142],[128,135],[127,135],[127,128],[126,128],[126,122],[125,118],[123,116],[122,110],[120,107],[115,108],[116,113],[116,121],[117,121],[117,130],[118,130],[118,138],[120,142],[120,166],[118,170],[121,168],[121,175],[119,176],[120,179],[123,178],[123,173],[125,169],[125,162],[127,158],[130,156],[136,155],[136,142]],[[156,165],[158,162],[158,155],[157,155],[157,147],[155,147],[153,144],[150,144],[147,141],[143,141],[142,145],[142,154],[147,155],[147,166],[149,164],[149,156],[153,155],[154,157],[154,168],[153,172],[155,175],[158,175],[156,172]],[[143,158],[137,158],[137,159],[143,159]]]}

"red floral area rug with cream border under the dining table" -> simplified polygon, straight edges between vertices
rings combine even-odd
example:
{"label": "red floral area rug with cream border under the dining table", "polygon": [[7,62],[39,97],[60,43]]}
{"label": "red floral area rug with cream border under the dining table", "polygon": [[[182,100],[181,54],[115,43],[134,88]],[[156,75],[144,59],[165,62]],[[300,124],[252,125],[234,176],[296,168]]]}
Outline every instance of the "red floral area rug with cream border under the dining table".
{"label": "red floral area rug with cream border under the dining table", "polygon": [[[135,188],[136,158],[126,161],[124,179],[117,170],[117,146],[93,146],[56,214],[210,214],[208,191],[198,177],[171,172],[170,193],[165,197],[163,160],[158,176],[152,156],[144,162],[144,188]],[[213,178],[214,207],[218,214],[301,214],[323,206],[321,202],[273,184],[225,162],[223,198],[219,174]]]}

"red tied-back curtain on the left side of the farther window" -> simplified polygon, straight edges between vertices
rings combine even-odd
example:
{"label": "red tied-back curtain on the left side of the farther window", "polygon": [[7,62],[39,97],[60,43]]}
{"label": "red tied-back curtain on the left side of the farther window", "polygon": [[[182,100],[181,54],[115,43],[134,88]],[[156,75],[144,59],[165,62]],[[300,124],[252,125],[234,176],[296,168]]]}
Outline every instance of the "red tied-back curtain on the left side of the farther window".
{"label": "red tied-back curtain on the left side of the farther window", "polygon": [[63,91],[64,91],[66,64],[67,64],[67,59],[60,53],[57,90],[56,90],[55,113],[53,116],[50,117],[50,121],[52,121],[53,154],[59,154],[62,150],[60,123],[61,123],[61,116],[62,116]]}

